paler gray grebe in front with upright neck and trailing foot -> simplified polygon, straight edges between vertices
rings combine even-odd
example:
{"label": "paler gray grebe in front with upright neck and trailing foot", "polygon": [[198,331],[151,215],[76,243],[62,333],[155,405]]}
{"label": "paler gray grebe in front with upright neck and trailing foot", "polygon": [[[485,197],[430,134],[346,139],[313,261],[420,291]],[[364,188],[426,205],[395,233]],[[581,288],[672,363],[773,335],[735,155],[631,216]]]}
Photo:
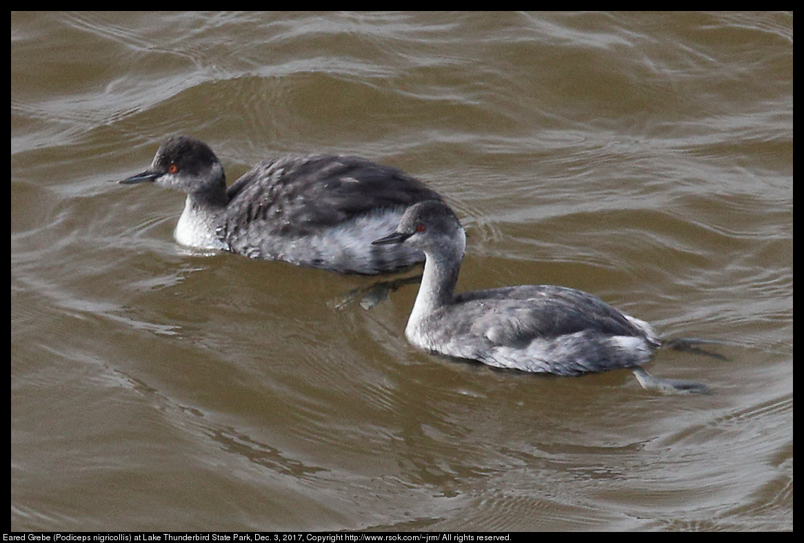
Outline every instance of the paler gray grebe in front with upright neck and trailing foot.
{"label": "paler gray grebe in front with upright neck and trailing foot", "polygon": [[554,285],[520,285],[455,293],[466,235],[442,202],[408,208],[396,231],[377,245],[425,253],[425,270],[405,336],[420,349],[526,372],[580,375],[638,368],[642,386],[704,392],[694,382],[652,378],[639,366],[662,339],[644,320],[597,296]]}

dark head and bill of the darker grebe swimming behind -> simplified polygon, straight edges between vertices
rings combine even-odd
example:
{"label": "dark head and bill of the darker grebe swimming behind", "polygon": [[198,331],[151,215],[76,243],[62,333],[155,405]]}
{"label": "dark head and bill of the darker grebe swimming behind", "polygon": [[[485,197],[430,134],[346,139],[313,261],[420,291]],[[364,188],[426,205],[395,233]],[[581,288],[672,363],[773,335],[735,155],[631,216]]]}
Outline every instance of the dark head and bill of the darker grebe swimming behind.
{"label": "dark head and bill of the darker grebe swimming behind", "polygon": [[217,200],[226,198],[226,177],[218,157],[203,141],[171,136],[159,145],[150,168],[121,183],[154,182],[188,194]]}

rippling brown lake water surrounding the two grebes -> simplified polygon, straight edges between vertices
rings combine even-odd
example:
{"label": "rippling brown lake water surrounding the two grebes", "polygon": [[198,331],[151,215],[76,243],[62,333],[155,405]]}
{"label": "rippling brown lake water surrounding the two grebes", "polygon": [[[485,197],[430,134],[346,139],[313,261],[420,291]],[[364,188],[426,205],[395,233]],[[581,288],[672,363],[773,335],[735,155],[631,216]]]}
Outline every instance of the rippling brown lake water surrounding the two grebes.
{"label": "rippling brown lake water surrounding the two grebes", "polygon": [[[14,530],[793,529],[792,14],[11,14]],[[581,288],[649,369],[417,352],[416,287],[203,255],[109,179],[355,153],[445,194],[459,288]]]}

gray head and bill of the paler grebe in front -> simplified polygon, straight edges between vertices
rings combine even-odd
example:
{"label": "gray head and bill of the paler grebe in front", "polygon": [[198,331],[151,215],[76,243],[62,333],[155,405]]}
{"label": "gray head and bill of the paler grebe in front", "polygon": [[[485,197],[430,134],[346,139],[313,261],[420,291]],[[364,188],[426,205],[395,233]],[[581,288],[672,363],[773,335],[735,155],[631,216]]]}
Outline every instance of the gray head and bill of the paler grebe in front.
{"label": "gray head and bill of the paler grebe in front", "polygon": [[409,243],[431,255],[449,251],[462,256],[466,249],[466,234],[461,222],[445,203],[428,200],[408,207],[396,232],[372,243]]}

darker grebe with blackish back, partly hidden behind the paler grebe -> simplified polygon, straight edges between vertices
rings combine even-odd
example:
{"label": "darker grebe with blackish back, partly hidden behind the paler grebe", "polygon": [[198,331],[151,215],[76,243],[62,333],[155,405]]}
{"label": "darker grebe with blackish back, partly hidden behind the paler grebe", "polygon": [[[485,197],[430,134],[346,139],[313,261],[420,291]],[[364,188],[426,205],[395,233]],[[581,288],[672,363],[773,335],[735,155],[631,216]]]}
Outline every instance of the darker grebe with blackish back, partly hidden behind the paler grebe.
{"label": "darker grebe with blackish back, partly hidden behind the paler grebe", "polygon": [[283,157],[231,186],[209,145],[168,137],[150,168],[120,183],[154,182],[187,193],[178,243],[332,272],[396,272],[424,260],[415,247],[378,247],[404,210],[441,195],[400,169],[339,155]]}

